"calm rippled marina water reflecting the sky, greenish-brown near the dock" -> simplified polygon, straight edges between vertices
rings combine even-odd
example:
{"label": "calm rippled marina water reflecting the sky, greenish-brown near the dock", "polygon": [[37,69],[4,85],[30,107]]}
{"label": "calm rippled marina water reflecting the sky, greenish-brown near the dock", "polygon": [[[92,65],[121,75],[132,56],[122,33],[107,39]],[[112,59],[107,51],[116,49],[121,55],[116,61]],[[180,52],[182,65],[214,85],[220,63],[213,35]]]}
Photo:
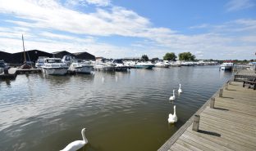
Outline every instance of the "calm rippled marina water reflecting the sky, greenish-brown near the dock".
{"label": "calm rippled marina water reflecting the sky, greenish-brown near the dock", "polygon": [[[60,150],[86,127],[80,150],[154,151],[229,78],[218,66],[18,75],[0,81],[0,150]],[[184,92],[169,101],[180,82]],[[178,122],[169,125],[174,104]]]}

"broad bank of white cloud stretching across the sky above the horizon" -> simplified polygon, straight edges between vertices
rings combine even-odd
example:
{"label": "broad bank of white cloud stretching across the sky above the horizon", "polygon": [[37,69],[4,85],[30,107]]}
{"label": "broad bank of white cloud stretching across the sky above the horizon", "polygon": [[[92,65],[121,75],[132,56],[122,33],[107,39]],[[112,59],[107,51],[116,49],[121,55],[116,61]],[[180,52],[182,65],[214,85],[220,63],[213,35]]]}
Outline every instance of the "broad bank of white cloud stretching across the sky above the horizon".
{"label": "broad bank of white cloud stretching across the sky above the horizon", "polygon": [[[15,20],[5,20],[15,27],[0,27],[0,50],[9,52],[21,51],[21,33],[25,33],[27,50],[88,51],[95,56],[109,58],[138,54],[162,58],[168,51],[174,51],[176,55],[190,51],[198,58],[222,59],[233,51],[243,50],[243,54],[236,57],[249,59],[249,54],[256,50],[253,39],[256,20],[241,19],[217,25],[199,24],[190,29],[206,28],[210,32],[185,35],[171,29],[154,27],[149,19],[139,16],[135,11],[116,6],[84,13],[68,9],[58,1],[0,0],[0,13],[16,17]],[[233,35],[234,31],[239,30],[249,34]],[[128,43],[126,47],[98,40],[112,35],[140,40]],[[219,56],[221,53],[226,55]]]}

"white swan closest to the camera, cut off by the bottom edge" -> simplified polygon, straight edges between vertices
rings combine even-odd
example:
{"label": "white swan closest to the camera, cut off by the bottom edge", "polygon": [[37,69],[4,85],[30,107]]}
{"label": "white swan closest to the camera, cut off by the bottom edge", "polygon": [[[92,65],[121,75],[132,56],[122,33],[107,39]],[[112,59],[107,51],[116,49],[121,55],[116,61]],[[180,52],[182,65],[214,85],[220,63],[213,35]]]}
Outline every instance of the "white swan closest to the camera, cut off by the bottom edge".
{"label": "white swan closest to the camera, cut off by the bottom edge", "polygon": [[75,141],[71,142],[70,144],[68,144],[66,146],[66,148],[62,149],[61,151],[76,151],[76,150],[82,148],[83,146],[85,146],[85,144],[88,143],[88,140],[85,137],[85,128],[82,129],[81,133],[83,136],[83,140],[75,140]]}

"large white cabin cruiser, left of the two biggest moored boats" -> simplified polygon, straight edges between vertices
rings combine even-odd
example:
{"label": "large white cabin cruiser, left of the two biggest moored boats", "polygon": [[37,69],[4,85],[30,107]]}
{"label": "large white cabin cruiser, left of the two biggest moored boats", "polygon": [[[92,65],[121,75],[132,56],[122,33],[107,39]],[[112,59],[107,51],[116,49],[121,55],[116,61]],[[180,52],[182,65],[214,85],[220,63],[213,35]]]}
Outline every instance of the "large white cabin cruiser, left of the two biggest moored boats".
{"label": "large white cabin cruiser, left of the two biggest moored boats", "polygon": [[42,66],[43,73],[48,75],[64,75],[67,72],[67,64],[59,58],[45,58]]}

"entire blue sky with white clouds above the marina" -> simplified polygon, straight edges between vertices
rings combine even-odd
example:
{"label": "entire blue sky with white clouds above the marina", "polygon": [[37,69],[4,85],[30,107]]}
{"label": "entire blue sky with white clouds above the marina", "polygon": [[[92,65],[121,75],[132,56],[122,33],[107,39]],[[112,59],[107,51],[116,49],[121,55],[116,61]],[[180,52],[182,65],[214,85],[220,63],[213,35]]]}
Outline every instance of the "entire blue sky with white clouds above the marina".
{"label": "entire blue sky with white clouds above the marina", "polygon": [[255,59],[255,0],[0,0],[0,51]]}

